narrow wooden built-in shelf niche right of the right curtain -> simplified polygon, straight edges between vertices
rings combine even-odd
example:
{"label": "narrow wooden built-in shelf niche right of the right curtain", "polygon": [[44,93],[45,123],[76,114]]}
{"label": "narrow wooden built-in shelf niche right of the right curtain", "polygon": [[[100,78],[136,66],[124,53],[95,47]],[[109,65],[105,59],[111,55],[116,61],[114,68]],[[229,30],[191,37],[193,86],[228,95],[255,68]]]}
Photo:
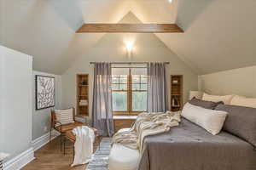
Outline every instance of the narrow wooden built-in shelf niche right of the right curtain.
{"label": "narrow wooden built-in shelf niche right of the right curtain", "polygon": [[171,110],[180,111],[183,107],[183,76],[171,75]]}

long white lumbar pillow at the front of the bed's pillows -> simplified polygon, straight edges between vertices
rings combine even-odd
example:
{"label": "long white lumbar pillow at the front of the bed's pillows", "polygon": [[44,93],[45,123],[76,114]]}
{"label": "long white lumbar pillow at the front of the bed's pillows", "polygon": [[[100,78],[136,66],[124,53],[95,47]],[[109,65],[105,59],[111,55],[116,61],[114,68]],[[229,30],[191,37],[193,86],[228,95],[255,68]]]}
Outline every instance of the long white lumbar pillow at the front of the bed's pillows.
{"label": "long white lumbar pillow at the front of the bed's pillows", "polygon": [[213,135],[218,134],[221,131],[227,114],[228,113],[225,111],[205,109],[189,103],[184,105],[182,111],[183,117],[190,122],[195,122],[195,124],[205,128]]}

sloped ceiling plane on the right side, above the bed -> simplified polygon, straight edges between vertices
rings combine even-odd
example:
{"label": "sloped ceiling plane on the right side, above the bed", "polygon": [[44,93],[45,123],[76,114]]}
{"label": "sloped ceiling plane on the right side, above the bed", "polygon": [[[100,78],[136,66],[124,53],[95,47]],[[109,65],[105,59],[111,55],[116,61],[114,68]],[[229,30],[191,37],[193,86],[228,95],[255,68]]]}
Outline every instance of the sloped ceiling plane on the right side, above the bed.
{"label": "sloped ceiling plane on the right side, above the bed", "polygon": [[184,34],[158,35],[200,74],[256,65],[256,1],[178,0]]}

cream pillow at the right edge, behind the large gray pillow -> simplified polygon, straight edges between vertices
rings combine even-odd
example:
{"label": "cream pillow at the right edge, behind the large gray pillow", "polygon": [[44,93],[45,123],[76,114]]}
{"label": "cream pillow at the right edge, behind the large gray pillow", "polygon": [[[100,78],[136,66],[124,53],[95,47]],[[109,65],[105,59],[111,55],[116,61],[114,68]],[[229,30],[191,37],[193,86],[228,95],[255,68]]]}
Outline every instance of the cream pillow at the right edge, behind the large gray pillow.
{"label": "cream pillow at the right edge, behind the large gray pillow", "polygon": [[256,98],[246,98],[243,96],[234,96],[231,100],[230,105],[240,105],[245,107],[253,107],[256,108]]}

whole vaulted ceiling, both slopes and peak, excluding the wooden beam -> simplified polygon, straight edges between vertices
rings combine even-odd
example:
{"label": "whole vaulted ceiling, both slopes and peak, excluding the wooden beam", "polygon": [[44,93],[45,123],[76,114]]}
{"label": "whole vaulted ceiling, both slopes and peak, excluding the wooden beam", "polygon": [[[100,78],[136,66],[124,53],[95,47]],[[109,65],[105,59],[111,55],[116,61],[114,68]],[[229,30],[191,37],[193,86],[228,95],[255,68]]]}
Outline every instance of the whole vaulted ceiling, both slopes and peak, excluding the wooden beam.
{"label": "whole vaulted ceiling, both slopes and peak, excluding the wooden beam", "polygon": [[156,34],[199,75],[256,65],[255,0],[0,0],[0,44],[34,58],[35,70],[62,74],[103,33],[84,23],[174,23],[184,33]]}

